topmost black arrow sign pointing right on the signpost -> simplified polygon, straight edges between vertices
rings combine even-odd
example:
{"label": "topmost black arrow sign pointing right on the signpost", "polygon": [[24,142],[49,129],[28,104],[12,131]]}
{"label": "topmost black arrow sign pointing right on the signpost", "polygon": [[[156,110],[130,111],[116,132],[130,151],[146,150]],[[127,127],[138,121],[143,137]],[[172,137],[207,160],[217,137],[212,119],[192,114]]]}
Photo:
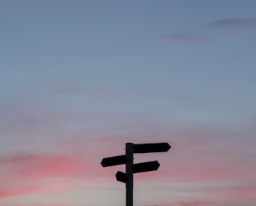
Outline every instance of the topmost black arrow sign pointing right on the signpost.
{"label": "topmost black arrow sign pointing right on the signpost", "polygon": [[171,146],[167,142],[153,144],[134,144],[134,153],[163,152],[169,151]]}

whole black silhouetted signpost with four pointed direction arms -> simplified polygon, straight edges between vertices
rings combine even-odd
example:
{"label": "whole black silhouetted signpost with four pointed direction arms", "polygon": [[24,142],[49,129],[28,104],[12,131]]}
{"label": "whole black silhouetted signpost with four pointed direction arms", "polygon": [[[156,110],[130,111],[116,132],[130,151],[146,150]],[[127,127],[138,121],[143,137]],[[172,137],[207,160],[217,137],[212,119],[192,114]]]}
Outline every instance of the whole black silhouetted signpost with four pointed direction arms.
{"label": "whole black silhouetted signpost with four pointed direction arms", "polygon": [[171,146],[167,142],[153,144],[126,143],[125,155],[102,159],[101,165],[103,167],[126,164],[126,173],[116,172],[116,180],[126,183],[126,206],[133,206],[133,173],[154,171],[160,166],[158,161],[133,164],[133,154],[164,152],[169,151],[170,148]]}

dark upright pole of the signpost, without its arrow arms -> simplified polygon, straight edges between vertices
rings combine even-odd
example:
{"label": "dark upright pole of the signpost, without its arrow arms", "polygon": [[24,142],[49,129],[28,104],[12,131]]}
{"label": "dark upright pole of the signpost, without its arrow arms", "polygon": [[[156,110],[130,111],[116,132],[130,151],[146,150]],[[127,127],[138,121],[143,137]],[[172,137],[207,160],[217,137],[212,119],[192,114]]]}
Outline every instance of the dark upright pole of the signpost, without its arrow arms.
{"label": "dark upright pole of the signpost, without its arrow arms", "polygon": [[126,206],[133,206],[133,143],[126,143]]}

